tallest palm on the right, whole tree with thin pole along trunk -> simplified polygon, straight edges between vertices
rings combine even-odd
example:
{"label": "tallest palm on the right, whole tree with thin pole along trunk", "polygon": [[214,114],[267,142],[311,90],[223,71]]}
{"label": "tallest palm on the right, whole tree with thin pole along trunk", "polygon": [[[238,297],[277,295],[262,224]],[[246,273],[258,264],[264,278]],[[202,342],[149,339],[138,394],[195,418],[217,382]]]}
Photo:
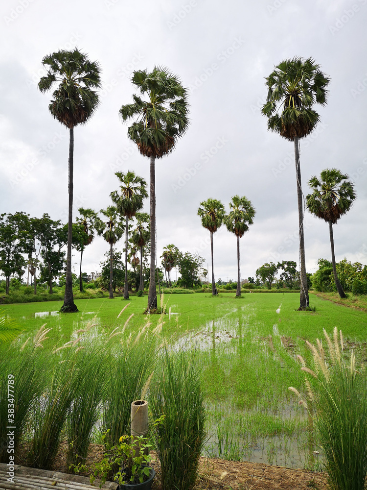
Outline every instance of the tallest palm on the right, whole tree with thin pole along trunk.
{"label": "tallest palm on the right, whole tree with thin pole along trunk", "polygon": [[[261,109],[268,118],[268,129],[294,142],[300,256],[299,310],[309,306],[306,260],[303,233],[303,196],[299,163],[299,139],[307,136],[319,123],[319,114],[312,109],[314,103],[326,104],[326,87],[330,79],[312,58],[293,58],[282,61],[266,78],[267,101]],[[278,113],[280,112],[280,113]]]}

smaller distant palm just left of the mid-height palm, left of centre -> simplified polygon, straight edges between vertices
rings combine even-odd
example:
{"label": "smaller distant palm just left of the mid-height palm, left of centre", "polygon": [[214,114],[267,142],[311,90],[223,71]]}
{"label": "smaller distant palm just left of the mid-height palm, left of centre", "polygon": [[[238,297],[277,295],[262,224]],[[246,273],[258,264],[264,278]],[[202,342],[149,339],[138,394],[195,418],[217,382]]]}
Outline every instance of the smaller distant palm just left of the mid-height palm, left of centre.
{"label": "smaller distant palm just left of the mid-height palm, left of centre", "polygon": [[110,244],[110,299],[114,297],[112,288],[112,274],[114,265],[113,246],[122,237],[125,225],[121,221],[120,213],[115,206],[107,206],[106,209],[101,209],[100,213],[103,214],[105,220],[97,218],[95,226],[98,235],[103,235],[103,238]]}

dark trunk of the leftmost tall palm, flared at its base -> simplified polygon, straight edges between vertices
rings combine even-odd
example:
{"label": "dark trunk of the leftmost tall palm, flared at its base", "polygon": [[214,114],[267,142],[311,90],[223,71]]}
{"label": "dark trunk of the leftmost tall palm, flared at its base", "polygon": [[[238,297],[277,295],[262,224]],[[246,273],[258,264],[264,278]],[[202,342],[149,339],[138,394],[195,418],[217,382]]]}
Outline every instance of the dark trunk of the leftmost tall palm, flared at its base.
{"label": "dark trunk of the leftmost tall palm, flared at its base", "polygon": [[[74,128],[70,128],[70,141],[69,141],[69,221],[68,221],[68,254],[66,259],[66,284],[65,284],[65,296],[64,304],[61,307],[61,311],[75,312],[78,311],[74,304],[74,297],[72,294],[72,277],[71,277],[71,240],[72,240],[72,197],[73,197],[73,168],[74,168]],[[52,290],[52,284],[51,284]]]}

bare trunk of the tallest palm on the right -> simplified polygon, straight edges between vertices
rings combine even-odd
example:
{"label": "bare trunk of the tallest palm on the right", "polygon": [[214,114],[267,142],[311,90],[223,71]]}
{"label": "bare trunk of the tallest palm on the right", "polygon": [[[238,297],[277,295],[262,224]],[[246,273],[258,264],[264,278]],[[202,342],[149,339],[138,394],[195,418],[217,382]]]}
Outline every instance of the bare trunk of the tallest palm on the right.
{"label": "bare trunk of the tallest palm on the right", "polygon": [[303,228],[303,200],[301,186],[301,167],[299,163],[298,137],[295,136],[295,160],[296,160],[296,176],[297,176],[297,200],[298,200],[298,225],[299,225],[299,256],[300,256],[300,295],[299,308],[303,310],[309,306],[307,275],[306,275],[306,259],[304,253],[304,228]]}

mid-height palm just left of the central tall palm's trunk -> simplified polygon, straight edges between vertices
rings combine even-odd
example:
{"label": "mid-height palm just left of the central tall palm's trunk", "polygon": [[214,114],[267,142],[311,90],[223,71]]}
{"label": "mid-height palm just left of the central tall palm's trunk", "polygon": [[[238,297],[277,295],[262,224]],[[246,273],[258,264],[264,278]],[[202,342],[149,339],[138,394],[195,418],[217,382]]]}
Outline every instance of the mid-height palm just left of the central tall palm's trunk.
{"label": "mid-height palm just left of the central tall palm's trunk", "polygon": [[124,299],[129,299],[129,287],[127,283],[129,218],[133,218],[139,209],[143,207],[143,200],[148,197],[148,193],[146,192],[147,184],[142,177],[135,175],[134,172],[115,172],[115,175],[121,185],[119,191],[113,191],[110,196],[117,206],[117,211],[126,218]]}

